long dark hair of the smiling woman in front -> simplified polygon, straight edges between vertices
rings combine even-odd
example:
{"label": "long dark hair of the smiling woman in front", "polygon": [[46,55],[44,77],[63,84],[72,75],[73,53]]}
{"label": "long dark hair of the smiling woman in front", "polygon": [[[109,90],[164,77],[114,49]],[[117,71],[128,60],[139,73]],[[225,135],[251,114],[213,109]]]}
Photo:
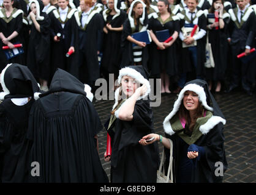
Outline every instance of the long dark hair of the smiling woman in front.
{"label": "long dark hair of the smiling woman in front", "polygon": [[178,115],[179,115],[180,119],[181,118],[186,119],[186,123],[189,126],[189,130],[190,130],[190,132],[192,132],[194,127],[195,127],[195,122],[197,121],[198,118],[203,116],[204,110],[205,110],[205,108],[203,107],[201,102],[198,102],[198,107],[197,107],[197,110],[196,110],[196,114],[195,114],[194,118],[192,119],[192,118],[190,118],[189,110],[187,110],[184,107],[183,101],[182,101],[181,106],[179,107]]}

